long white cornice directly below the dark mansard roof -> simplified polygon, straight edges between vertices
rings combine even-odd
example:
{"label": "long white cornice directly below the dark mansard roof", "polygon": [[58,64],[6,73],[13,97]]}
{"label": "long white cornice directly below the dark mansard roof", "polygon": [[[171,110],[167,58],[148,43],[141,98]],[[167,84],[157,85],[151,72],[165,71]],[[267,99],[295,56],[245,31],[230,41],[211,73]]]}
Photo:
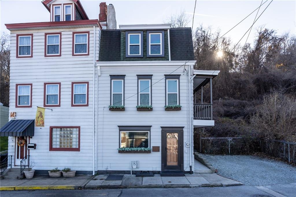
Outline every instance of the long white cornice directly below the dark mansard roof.
{"label": "long white cornice directly below the dark mansard roof", "polygon": [[189,61],[116,61],[116,62],[96,62],[97,66],[181,66],[194,65],[196,60]]}

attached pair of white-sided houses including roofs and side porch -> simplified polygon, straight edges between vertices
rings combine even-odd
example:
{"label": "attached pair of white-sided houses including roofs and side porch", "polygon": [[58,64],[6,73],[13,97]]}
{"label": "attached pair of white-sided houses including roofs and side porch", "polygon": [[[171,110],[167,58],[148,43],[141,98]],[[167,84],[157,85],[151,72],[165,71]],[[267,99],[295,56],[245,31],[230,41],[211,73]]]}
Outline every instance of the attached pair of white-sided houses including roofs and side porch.
{"label": "attached pair of white-sided houses including roofs and side porch", "polygon": [[[90,20],[79,0],[44,0],[50,22],[11,33],[9,136],[13,168],[37,174],[194,171],[194,127],[213,126],[219,71],[194,70],[191,28],[119,25],[112,4]],[[128,22],[127,22],[128,23]],[[38,107],[44,127],[36,127]],[[25,141],[23,146],[19,146]],[[35,146],[36,145],[36,146]]]}

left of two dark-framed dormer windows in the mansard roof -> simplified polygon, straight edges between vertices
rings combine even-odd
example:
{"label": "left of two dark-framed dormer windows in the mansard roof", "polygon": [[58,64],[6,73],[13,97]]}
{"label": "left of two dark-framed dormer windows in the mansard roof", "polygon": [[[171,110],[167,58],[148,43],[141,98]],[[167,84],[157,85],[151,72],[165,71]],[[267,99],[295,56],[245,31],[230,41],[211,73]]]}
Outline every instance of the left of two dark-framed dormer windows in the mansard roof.
{"label": "left of two dark-framed dormer windows in the mansard roof", "polygon": [[126,32],[126,57],[143,57],[143,31]]}

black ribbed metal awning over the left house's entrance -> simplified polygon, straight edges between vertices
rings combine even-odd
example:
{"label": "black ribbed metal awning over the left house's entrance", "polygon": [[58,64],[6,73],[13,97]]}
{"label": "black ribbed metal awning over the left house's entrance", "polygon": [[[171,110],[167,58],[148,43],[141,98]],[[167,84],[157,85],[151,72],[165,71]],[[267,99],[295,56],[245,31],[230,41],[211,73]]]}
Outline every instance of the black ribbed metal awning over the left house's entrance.
{"label": "black ribbed metal awning over the left house's entrance", "polygon": [[10,120],[0,130],[0,136],[34,136],[35,120]]}

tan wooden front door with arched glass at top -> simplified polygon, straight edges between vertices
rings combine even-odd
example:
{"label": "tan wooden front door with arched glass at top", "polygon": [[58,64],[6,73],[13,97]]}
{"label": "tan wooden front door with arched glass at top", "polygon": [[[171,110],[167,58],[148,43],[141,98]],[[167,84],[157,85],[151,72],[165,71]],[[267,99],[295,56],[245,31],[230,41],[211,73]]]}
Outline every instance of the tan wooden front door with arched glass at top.
{"label": "tan wooden front door with arched glass at top", "polygon": [[166,165],[178,166],[178,133],[166,133]]}

